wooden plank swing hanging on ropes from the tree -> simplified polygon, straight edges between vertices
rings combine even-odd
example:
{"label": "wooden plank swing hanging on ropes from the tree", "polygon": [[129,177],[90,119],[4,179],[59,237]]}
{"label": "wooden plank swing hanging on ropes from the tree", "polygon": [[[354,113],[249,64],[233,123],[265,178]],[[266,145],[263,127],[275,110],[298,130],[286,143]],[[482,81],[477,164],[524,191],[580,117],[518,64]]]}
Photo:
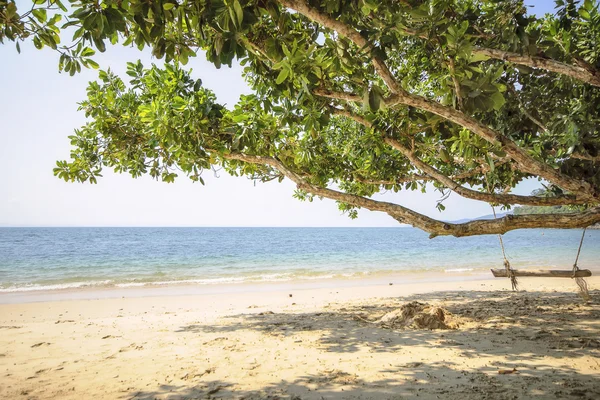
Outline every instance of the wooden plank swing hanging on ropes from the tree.
{"label": "wooden plank swing hanging on ropes from the tree", "polygon": [[[496,218],[496,211],[492,207],[494,212],[494,218]],[[502,241],[502,235],[498,235],[500,241],[500,248],[502,249],[502,256],[504,257],[504,269],[492,269],[492,274],[495,278],[510,278],[510,283],[513,290],[518,290],[517,277],[548,277],[548,278],[572,278],[575,279],[579,292],[584,299],[589,299],[588,287],[585,279],[592,276],[592,272],[589,269],[579,269],[577,262],[579,261],[579,254],[581,253],[581,246],[583,245],[583,239],[585,238],[586,228],[583,228],[581,240],[579,241],[579,248],[577,249],[577,256],[575,257],[575,263],[573,268],[570,270],[518,270],[512,269],[508,258],[506,258],[506,252],[504,250],[504,242]]]}

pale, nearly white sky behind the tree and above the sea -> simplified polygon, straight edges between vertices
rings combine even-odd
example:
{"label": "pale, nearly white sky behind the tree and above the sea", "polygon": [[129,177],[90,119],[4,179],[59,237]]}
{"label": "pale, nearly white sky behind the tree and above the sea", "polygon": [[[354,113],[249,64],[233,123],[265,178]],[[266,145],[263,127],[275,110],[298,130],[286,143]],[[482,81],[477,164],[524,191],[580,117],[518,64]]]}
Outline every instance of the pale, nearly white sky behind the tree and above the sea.
{"label": "pale, nearly white sky behind the tree and above the sea", "polygon": [[[540,11],[551,11],[551,0],[529,1]],[[152,60],[149,52],[109,47],[95,60],[127,78],[127,61]],[[294,185],[256,183],[222,172],[203,177],[206,186],[184,176],[173,184],[150,177],[132,179],[109,169],[97,185],[66,183],[52,174],[56,160],[69,158],[67,136],[85,123],[77,102],[85,98],[97,71],[70,77],[58,73],[58,55],[45,48],[0,45],[0,226],[399,226],[386,214],[361,210],[359,218],[342,215],[331,200],[300,202],[292,198]],[[190,59],[193,77],[201,78],[221,103],[231,106],[249,93],[241,68],[215,67],[203,55]],[[536,182],[518,187],[528,194]],[[403,191],[377,196],[444,220],[491,213],[488,204],[452,195],[446,211],[435,209],[439,192]]]}

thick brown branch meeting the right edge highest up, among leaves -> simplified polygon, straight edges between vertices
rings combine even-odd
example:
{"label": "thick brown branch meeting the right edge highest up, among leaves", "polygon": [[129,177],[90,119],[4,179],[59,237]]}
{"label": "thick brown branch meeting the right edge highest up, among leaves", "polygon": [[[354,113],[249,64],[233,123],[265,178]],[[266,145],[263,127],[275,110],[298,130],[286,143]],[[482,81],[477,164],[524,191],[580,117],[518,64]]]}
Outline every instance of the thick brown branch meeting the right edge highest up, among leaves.
{"label": "thick brown branch meeting the right edge highest up, among leaves", "polygon": [[550,58],[521,55],[509,51],[488,49],[483,47],[475,48],[473,53],[482,54],[496,60],[509,61],[532,68],[545,69],[546,71],[567,75],[582,82],[589,83],[590,85],[600,87],[600,76],[598,73],[594,74],[588,69],[580,66],[566,64]]}

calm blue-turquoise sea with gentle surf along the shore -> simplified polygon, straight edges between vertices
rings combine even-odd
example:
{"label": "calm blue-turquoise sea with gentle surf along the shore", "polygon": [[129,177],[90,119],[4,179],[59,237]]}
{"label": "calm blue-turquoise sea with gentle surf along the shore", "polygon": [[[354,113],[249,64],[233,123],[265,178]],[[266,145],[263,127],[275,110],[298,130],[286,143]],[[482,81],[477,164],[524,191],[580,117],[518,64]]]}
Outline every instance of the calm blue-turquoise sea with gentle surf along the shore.
{"label": "calm blue-turquoise sea with gentle surf along the shore", "polygon": [[[580,230],[504,236],[515,268],[571,268]],[[598,269],[600,230],[580,266]],[[81,287],[359,279],[502,267],[496,236],[413,228],[0,228],[0,293]]]}

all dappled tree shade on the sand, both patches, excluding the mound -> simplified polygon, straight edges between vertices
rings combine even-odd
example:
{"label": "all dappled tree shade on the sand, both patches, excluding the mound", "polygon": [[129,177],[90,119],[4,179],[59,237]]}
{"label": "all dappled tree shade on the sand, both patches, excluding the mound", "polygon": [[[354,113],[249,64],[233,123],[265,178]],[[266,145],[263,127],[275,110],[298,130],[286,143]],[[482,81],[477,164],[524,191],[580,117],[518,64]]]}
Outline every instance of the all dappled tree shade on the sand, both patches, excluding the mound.
{"label": "all dappled tree shade on the sand, both patches, excluding the mound", "polygon": [[[312,313],[249,312],[224,318],[219,325],[182,326],[177,333],[228,335],[242,330],[275,341],[316,333],[318,340],[312,346],[328,354],[393,356],[412,347],[452,350],[454,356],[427,359],[414,354],[410,362],[376,367],[377,374],[371,376],[378,379],[365,380],[345,364],[252,389],[240,387],[235,379],[215,380],[207,375],[193,384],[162,385],[128,393],[126,398],[600,399],[600,292],[591,295],[592,301],[584,303],[570,293],[447,291],[368,305],[332,304]],[[461,327],[392,330],[356,318],[374,319],[413,300],[443,305],[462,319]],[[498,363],[482,361],[494,357],[502,360],[500,367],[517,371],[499,374]],[[561,362],[550,365],[545,361],[549,358]]]}

